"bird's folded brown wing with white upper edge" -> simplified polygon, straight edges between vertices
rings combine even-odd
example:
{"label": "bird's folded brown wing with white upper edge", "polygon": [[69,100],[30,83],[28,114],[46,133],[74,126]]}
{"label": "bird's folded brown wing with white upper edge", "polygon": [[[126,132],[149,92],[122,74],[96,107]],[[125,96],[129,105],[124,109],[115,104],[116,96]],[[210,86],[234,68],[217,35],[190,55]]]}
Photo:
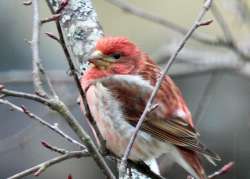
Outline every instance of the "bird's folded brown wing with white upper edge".
{"label": "bird's folded brown wing with white upper edge", "polygon": [[[119,101],[126,120],[132,126],[137,124],[153,89],[150,84],[140,80],[131,75],[114,75],[98,81]],[[199,142],[199,134],[186,120],[164,113],[165,108],[170,107],[164,103],[164,99],[157,96],[155,103],[159,106],[147,115],[141,130],[161,141],[218,159],[216,154]]]}

